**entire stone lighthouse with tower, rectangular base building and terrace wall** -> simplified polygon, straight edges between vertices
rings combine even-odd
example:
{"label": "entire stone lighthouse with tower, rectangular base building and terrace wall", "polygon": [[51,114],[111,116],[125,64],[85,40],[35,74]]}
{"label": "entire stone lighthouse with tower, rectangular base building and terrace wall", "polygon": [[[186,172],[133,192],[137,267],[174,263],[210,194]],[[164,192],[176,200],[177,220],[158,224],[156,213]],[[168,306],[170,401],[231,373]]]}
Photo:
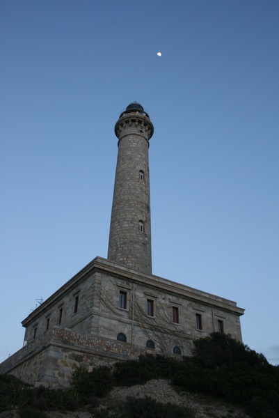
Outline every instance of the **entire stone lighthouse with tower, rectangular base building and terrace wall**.
{"label": "entire stone lighthouse with tower, rectangular base building and terrace wall", "polygon": [[0,364],[26,382],[67,386],[74,366],[189,355],[193,339],[225,332],[241,341],[235,302],[152,274],[148,148],[154,132],[141,104],[115,124],[108,258],[96,257],[22,321],[24,347]]}

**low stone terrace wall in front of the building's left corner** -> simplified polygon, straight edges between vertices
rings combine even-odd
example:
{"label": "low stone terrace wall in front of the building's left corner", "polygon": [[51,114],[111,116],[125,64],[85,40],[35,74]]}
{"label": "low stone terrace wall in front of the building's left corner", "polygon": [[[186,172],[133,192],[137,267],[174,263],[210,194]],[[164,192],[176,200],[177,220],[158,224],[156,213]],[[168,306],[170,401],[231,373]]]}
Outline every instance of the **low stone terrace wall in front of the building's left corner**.
{"label": "low stone terrace wall in front of the building's left corner", "polygon": [[83,365],[90,371],[95,366],[109,366],[151,352],[154,350],[57,327],[1,363],[0,373],[13,374],[35,385],[67,387],[76,366]]}

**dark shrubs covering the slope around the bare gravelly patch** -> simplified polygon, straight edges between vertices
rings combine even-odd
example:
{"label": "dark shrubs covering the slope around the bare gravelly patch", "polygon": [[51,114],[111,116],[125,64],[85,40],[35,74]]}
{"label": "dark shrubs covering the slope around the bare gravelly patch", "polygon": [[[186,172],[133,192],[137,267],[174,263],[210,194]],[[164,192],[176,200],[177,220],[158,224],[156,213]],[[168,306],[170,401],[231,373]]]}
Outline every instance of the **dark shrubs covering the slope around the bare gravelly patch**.
{"label": "dark shrubs covering the slope around the bare gravelly patch", "polygon": [[[47,410],[77,410],[87,405],[95,417],[99,398],[113,386],[143,384],[168,379],[182,391],[217,396],[243,405],[253,418],[279,417],[279,367],[271,366],[261,354],[232,339],[213,333],[194,341],[192,357],[177,359],[145,355],[138,360],[115,364],[113,371],[100,366],[93,371],[79,367],[72,372],[69,389],[32,388],[14,376],[0,375],[0,412],[19,408],[21,418],[45,418]],[[88,406],[89,405],[89,406]],[[157,403],[151,398],[127,399],[110,412],[112,418],[194,417],[191,410]]]}

